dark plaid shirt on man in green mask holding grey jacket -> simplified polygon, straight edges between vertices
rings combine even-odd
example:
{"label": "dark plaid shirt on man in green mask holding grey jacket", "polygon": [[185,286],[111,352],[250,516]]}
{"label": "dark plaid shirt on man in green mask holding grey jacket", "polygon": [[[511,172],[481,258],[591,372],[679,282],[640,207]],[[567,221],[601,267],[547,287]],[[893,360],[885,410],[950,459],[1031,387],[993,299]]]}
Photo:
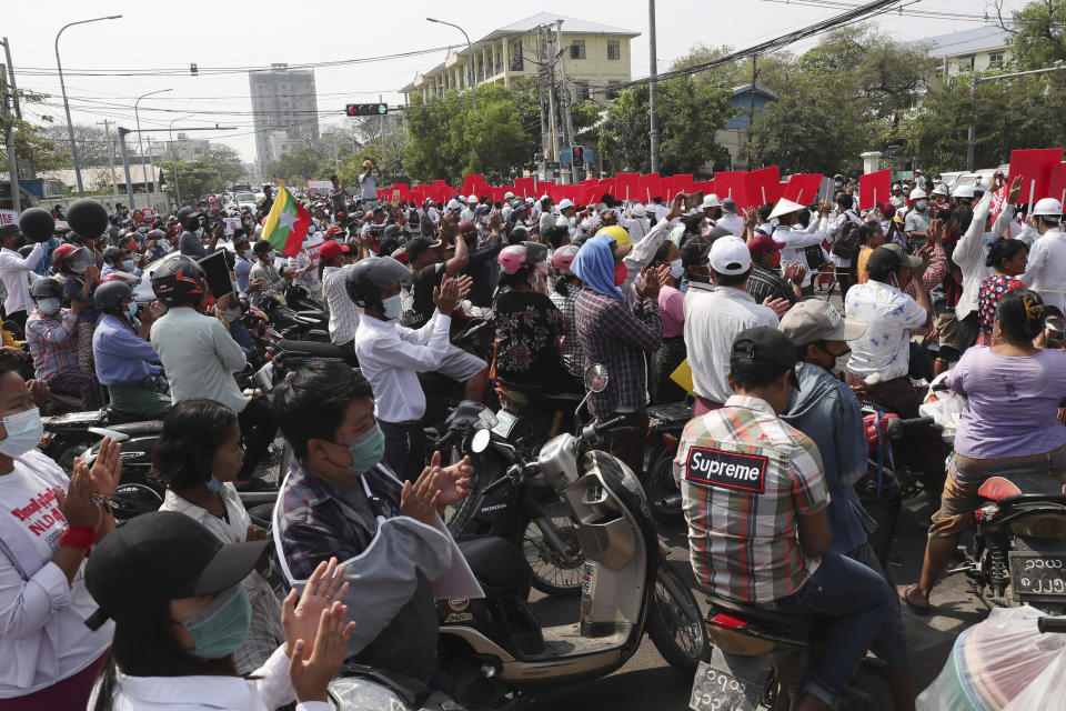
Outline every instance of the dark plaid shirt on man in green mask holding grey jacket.
{"label": "dark plaid shirt on man in green mask holding grey jacket", "polygon": [[[374,495],[392,514],[400,507],[400,487],[374,467],[362,477]],[[279,495],[278,527],[281,548],[293,580],[306,580],[315,565],[335,557],[338,561],[354,558],[366,550],[378,531],[373,512],[360,512],[345,504],[336,489],[314,474],[309,474],[292,460],[289,478]],[[278,547],[270,547],[270,565],[284,578],[278,563]]]}

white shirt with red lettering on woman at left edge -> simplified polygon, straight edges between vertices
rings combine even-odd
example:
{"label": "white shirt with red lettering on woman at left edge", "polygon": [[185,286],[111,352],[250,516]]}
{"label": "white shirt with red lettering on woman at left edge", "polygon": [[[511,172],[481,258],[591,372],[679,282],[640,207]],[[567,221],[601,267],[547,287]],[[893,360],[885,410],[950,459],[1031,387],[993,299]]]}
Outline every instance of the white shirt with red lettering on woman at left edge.
{"label": "white shirt with red lettering on woman at left edge", "polygon": [[[70,480],[51,459],[30,451],[0,477],[0,699],[21,697],[73,677],[111,644],[114,623],[93,632],[86,619],[97,603],[86,590],[84,564],[72,584],[52,562],[67,529],[51,487]],[[16,555],[16,565],[9,551]],[[26,580],[20,568],[29,575]]]}

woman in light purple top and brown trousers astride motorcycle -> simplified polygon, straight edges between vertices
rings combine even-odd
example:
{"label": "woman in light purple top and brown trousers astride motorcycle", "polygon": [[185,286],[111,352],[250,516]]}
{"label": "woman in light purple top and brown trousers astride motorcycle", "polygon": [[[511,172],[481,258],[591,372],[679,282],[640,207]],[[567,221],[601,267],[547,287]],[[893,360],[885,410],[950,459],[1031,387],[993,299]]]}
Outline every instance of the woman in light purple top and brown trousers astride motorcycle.
{"label": "woman in light purple top and brown trousers astride motorcycle", "polygon": [[966,351],[947,377],[968,402],[955,435],[941,510],[933,517],[922,579],[901,590],[907,605],[929,611],[929,592],[973,523],[977,490],[992,475],[1046,473],[1066,481],[1066,352],[1040,349],[1044,302],[1028,289],[1007,292],[996,309],[990,348]]}

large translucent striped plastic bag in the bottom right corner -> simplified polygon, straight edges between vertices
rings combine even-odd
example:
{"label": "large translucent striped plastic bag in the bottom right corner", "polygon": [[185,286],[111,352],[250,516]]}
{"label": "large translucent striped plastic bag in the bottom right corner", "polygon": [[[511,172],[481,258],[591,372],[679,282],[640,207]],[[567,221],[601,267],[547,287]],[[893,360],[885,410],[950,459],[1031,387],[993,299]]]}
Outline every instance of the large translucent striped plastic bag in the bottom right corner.
{"label": "large translucent striped plastic bag in the bottom right corner", "polygon": [[918,694],[918,711],[1037,711],[1066,698],[1066,634],[1036,629],[1028,605],[996,608],[965,630],[936,680]]}

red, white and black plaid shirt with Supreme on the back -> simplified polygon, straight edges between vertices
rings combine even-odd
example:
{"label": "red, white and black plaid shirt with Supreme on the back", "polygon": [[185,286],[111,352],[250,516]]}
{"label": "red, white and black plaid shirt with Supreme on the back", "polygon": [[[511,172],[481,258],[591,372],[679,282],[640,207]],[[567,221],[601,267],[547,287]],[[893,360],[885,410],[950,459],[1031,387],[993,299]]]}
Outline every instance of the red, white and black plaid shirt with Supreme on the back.
{"label": "red, white and black plaid shirt with Supreme on the back", "polygon": [[685,425],[674,460],[696,579],[715,594],[768,603],[807,581],[796,517],[829,494],[814,441],[764,400],[733,395]]}

